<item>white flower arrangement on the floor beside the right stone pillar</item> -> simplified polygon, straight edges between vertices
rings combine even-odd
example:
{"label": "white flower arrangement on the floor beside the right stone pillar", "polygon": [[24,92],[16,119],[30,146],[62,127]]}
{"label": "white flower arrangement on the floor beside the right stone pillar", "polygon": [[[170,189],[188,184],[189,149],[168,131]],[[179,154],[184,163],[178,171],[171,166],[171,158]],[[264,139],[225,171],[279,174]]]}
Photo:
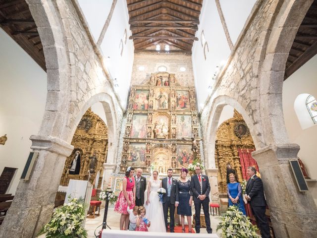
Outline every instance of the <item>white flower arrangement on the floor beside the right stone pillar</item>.
{"label": "white flower arrangement on the floor beside the right stone pillar", "polygon": [[236,206],[230,206],[220,218],[217,231],[222,230],[225,238],[257,238],[256,226],[252,225],[248,217],[243,215]]}

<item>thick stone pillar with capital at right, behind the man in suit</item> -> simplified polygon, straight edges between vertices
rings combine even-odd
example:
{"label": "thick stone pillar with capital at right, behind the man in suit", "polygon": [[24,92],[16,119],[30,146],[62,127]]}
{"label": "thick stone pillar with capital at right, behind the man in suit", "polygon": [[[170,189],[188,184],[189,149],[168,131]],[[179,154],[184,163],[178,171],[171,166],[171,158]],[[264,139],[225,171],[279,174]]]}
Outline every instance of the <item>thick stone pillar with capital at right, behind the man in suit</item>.
{"label": "thick stone pillar with capital at right, behind the man in suit", "polygon": [[310,192],[299,192],[289,161],[297,144],[269,145],[254,151],[276,237],[317,237],[317,207]]}

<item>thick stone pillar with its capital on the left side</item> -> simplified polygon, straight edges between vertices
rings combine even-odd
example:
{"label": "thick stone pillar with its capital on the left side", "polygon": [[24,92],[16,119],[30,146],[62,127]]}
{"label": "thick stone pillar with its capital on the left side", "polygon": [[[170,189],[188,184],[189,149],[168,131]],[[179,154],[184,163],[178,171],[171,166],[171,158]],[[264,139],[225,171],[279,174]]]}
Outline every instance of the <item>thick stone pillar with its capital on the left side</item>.
{"label": "thick stone pillar with its capital on the left side", "polygon": [[65,159],[73,146],[51,136],[30,137],[39,152],[29,180],[20,180],[0,237],[35,237],[51,219]]}

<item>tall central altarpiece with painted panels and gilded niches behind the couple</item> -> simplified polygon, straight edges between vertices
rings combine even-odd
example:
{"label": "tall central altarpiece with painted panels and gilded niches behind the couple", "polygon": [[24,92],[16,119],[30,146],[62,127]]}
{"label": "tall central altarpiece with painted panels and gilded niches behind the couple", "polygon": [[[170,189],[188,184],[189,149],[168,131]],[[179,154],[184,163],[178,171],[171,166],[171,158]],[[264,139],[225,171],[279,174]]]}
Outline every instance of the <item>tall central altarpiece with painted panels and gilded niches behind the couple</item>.
{"label": "tall central altarpiece with painted panels and gilded niches behind the couple", "polygon": [[120,171],[133,166],[147,174],[152,165],[160,174],[168,168],[178,173],[200,158],[200,145],[194,153],[191,139],[199,140],[197,113],[195,88],[181,86],[174,74],[153,73],[146,85],[133,85]]}

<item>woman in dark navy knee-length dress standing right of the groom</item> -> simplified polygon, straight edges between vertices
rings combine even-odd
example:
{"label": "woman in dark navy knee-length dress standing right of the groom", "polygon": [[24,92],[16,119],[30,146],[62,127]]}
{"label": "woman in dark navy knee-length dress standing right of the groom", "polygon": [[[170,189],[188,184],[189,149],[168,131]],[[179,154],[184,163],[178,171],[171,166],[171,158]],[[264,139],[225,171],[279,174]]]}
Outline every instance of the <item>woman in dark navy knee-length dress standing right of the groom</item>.
{"label": "woman in dark navy knee-length dress standing right of the groom", "polygon": [[180,221],[182,224],[182,233],[185,233],[185,216],[187,217],[188,223],[188,233],[192,233],[192,191],[190,189],[190,180],[186,179],[188,170],[182,168],[182,172],[180,174],[180,180],[177,182],[178,185],[178,198],[179,204],[177,207],[177,214],[180,215]]}

